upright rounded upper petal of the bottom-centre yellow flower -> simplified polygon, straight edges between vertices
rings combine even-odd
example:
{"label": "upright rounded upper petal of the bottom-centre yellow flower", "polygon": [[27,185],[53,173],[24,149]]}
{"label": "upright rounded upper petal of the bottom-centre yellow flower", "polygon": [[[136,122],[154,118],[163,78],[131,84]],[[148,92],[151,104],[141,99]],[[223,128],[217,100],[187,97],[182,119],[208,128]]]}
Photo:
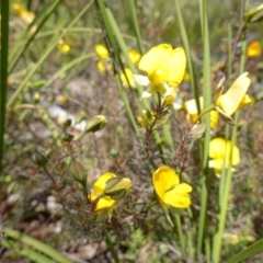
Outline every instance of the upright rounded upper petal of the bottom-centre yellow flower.
{"label": "upright rounded upper petal of the bottom-centre yellow flower", "polygon": [[153,186],[161,201],[167,191],[179,184],[179,175],[170,167],[160,167],[152,175]]}

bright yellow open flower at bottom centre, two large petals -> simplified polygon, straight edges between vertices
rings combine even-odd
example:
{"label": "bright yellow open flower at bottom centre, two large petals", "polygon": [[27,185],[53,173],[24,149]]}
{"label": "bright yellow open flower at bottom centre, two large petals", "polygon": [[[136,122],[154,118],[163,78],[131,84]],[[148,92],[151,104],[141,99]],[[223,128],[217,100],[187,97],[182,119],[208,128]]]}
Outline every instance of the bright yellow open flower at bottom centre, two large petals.
{"label": "bright yellow open flower at bottom centre, two large petals", "polygon": [[170,167],[160,167],[152,176],[153,186],[161,206],[165,208],[186,208],[191,205],[188,193],[192,187],[180,183],[179,175]]}

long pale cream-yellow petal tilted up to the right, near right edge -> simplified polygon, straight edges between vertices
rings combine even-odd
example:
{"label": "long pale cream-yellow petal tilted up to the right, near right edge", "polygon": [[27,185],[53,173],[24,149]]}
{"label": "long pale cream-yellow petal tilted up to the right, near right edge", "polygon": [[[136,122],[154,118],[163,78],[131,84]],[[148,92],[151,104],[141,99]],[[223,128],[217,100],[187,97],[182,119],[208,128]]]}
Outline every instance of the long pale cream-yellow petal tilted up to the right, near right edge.
{"label": "long pale cream-yellow petal tilted up to the right, near right edge", "polygon": [[248,72],[242,73],[230,87],[230,89],[216,101],[216,105],[224,110],[227,115],[232,115],[243,101],[251,80]]}

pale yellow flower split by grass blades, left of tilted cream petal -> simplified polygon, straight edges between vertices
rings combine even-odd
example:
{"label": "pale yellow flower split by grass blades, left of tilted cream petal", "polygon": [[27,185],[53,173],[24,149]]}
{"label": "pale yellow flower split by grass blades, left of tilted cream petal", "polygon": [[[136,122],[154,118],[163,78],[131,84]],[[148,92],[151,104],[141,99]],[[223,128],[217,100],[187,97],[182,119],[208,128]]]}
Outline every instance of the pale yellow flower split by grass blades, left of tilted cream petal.
{"label": "pale yellow flower split by grass blades, left of tilted cream petal", "polygon": [[[199,98],[199,104],[201,104],[201,111],[203,111],[203,108],[204,108],[203,96]],[[198,118],[198,111],[197,111],[197,105],[196,105],[195,99],[186,101],[184,103],[184,108],[186,110],[186,112],[191,116],[191,119],[193,122],[196,122],[197,118]],[[210,111],[210,127],[211,128],[215,128],[217,126],[218,119],[219,119],[219,113],[217,111]]]}

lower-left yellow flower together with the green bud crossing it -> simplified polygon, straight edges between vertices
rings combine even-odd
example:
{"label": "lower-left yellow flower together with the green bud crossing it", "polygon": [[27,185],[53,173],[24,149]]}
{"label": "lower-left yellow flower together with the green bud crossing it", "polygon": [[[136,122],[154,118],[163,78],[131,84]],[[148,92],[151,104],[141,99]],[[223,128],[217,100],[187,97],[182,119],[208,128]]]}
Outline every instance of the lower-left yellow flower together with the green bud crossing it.
{"label": "lower-left yellow flower together with the green bud crossing it", "polygon": [[[88,196],[91,202],[96,202],[95,207],[93,209],[94,213],[105,213],[108,216],[112,216],[114,207],[118,204],[121,198],[116,198],[115,196],[118,193],[125,192],[128,193],[132,187],[132,182],[127,178],[121,178],[118,182],[114,182],[114,184],[110,184],[113,179],[117,179],[114,173],[104,173],[102,174],[94,183],[92,187],[92,193]],[[116,187],[121,185],[121,187]],[[114,193],[111,193],[111,191]],[[106,192],[106,194],[105,194]]]}

